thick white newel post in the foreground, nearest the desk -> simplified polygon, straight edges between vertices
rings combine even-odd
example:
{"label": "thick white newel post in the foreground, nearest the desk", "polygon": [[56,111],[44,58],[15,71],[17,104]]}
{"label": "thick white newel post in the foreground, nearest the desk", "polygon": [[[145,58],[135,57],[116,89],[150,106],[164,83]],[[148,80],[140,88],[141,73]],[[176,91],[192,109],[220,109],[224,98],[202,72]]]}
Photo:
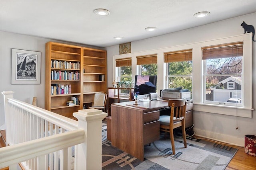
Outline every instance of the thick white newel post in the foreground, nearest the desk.
{"label": "thick white newel post in the foreground, nearest the desk", "polygon": [[84,143],[75,148],[75,170],[101,170],[102,119],[107,113],[98,109],[83,109],[73,113],[78,128],[84,129]]}

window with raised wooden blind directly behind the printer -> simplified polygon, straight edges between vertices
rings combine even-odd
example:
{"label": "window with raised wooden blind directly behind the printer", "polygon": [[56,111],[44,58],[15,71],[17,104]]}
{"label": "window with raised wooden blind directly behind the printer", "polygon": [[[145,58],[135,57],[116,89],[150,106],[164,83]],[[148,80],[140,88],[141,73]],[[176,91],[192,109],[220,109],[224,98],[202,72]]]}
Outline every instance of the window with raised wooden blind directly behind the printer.
{"label": "window with raised wooden blind directly behind the printer", "polygon": [[188,89],[192,98],[192,49],[164,53],[166,88]]}

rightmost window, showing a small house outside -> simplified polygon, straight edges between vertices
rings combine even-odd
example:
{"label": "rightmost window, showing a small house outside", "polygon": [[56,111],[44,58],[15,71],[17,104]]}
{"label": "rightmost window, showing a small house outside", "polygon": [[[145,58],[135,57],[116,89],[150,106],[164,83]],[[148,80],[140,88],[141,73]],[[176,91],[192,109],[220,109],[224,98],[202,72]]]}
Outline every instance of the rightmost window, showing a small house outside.
{"label": "rightmost window, showing a small house outside", "polygon": [[[242,98],[243,43],[202,48],[204,62],[204,103],[238,106]],[[230,98],[240,102],[228,102]]]}

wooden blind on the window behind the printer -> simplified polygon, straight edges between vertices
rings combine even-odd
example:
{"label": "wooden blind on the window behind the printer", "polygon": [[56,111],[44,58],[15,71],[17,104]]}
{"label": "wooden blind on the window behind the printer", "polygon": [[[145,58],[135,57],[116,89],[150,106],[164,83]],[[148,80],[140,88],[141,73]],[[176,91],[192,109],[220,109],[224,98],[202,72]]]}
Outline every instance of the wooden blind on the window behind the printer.
{"label": "wooden blind on the window behind the printer", "polygon": [[164,53],[164,63],[192,61],[192,49]]}

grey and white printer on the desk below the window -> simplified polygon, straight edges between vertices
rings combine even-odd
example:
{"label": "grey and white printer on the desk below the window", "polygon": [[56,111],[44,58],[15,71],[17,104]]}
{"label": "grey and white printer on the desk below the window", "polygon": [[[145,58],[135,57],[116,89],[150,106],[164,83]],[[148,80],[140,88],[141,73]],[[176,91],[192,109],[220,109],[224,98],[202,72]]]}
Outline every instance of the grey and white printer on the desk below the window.
{"label": "grey and white printer on the desk below the window", "polygon": [[164,89],[161,91],[161,97],[163,100],[183,98],[186,98],[186,100],[190,100],[190,91],[188,89]]}

